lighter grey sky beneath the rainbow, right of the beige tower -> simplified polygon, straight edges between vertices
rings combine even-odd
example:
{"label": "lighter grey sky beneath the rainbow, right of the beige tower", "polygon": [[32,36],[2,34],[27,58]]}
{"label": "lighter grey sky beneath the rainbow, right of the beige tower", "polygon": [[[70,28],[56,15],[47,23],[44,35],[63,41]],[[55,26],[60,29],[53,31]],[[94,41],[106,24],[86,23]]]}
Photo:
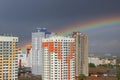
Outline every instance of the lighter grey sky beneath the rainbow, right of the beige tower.
{"label": "lighter grey sky beneath the rainbow, right of the beige tower", "polygon": [[[102,29],[99,29],[102,30]],[[92,53],[120,53],[120,26],[113,29],[95,32],[89,35],[89,51]]]}

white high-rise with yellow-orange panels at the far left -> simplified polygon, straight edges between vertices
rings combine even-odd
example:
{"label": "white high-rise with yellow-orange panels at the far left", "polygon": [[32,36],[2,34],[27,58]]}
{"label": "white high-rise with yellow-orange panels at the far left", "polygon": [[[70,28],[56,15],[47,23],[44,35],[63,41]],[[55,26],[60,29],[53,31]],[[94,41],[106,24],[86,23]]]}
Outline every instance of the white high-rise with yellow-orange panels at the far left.
{"label": "white high-rise with yellow-orange panels at the far left", "polygon": [[18,80],[18,37],[0,35],[0,80]]}

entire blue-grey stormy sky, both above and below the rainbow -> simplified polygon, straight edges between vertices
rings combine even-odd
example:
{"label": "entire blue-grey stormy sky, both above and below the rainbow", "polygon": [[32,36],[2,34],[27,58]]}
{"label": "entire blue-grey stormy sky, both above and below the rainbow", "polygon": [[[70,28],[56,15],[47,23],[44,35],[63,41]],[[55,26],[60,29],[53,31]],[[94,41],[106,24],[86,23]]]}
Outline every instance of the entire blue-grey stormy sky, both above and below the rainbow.
{"label": "entire blue-grey stormy sky, both above and below the rainbow", "polygon": [[[0,0],[0,33],[18,36],[23,44],[37,27],[58,31],[74,23],[115,15],[120,16],[120,0]],[[119,54],[120,26],[116,28],[83,32],[89,36],[89,52]]]}

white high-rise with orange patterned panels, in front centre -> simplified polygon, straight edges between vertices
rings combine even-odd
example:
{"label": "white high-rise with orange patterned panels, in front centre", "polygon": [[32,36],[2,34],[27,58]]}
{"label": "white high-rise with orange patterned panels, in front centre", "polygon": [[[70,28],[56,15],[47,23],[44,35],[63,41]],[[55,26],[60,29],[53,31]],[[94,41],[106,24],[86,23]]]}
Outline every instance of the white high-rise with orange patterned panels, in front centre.
{"label": "white high-rise with orange patterned panels, in front centre", "polygon": [[42,39],[43,80],[75,80],[74,42],[62,36]]}

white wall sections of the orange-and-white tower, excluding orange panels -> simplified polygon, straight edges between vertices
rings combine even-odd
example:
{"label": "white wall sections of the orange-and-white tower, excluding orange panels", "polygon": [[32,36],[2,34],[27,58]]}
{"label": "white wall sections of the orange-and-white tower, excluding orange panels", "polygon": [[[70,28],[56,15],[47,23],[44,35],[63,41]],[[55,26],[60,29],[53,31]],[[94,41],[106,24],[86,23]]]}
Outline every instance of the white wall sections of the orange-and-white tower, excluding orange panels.
{"label": "white wall sections of the orange-and-white tower, excluding orange panels", "polygon": [[[48,48],[44,48],[44,78],[43,80],[68,80],[68,64],[67,57],[70,53],[70,42],[74,42],[73,38],[54,36],[42,39],[42,42],[61,42],[62,60],[58,59],[58,54],[48,52]],[[54,45],[57,47],[57,45]],[[70,60],[70,80],[75,79],[75,64],[73,58]],[[62,65],[62,66],[60,66]],[[62,68],[61,68],[62,67]],[[61,70],[62,69],[62,70]],[[62,73],[61,73],[62,71]],[[62,77],[62,78],[61,78]]]}

